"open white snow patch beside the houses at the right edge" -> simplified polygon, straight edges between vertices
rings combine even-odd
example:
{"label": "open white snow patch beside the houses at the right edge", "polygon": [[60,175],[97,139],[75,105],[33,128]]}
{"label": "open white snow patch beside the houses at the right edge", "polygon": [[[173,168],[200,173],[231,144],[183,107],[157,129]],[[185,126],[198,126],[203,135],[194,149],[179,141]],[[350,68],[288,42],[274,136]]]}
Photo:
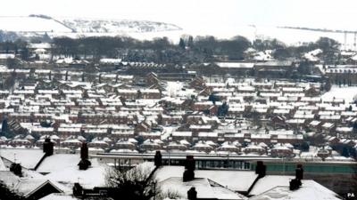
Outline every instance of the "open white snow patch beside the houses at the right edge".
{"label": "open white snow patch beside the houses at the right edge", "polygon": [[357,95],[357,86],[352,87],[339,87],[337,85],[333,85],[329,92],[324,93],[321,98],[322,100],[333,100],[334,97],[336,99],[344,99],[345,103],[352,102],[353,97]]}

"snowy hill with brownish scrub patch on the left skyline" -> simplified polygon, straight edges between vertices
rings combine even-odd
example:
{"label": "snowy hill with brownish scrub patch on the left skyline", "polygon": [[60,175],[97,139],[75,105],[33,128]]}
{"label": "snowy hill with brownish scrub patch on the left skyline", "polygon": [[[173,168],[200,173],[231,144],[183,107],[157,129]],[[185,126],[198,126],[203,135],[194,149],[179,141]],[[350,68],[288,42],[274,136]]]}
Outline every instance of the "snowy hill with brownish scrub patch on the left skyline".
{"label": "snowy hill with brownish scrub patch on the left skyline", "polygon": [[147,20],[96,20],[96,19],[54,19],[45,15],[27,17],[0,17],[0,30],[18,33],[147,33],[180,30],[178,26]]}

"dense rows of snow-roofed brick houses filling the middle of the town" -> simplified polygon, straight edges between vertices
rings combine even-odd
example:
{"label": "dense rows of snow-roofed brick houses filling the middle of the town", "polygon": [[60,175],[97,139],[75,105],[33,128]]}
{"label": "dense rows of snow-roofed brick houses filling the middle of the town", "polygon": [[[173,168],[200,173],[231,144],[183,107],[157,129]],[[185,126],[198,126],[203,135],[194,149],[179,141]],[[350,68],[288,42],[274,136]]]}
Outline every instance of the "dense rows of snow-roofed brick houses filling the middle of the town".
{"label": "dense rows of snow-roofed brick houses filling the middle of the town", "polygon": [[320,84],[208,80],[170,82],[150,73],[138,86],[39,78],[0,92],[0,119],[19,124],[19,134],[56,135],[62,145],[79,136],[112,140],[104,141],[108,148],[135,139],[137,150],[144,140],[160,140],[160,147],[179,140],[190,148],[200,141],[298,146],[307,131],[355,140],[356,106],[322,98]]}

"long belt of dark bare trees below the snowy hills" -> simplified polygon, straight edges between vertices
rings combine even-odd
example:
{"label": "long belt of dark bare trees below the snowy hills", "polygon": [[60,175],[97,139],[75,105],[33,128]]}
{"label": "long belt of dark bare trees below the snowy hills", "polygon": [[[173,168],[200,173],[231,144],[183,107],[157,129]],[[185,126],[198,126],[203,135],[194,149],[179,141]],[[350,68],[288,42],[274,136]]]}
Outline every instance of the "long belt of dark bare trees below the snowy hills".
{"label": "long belt of dark bare trees below the snowy hills", "polygon": [[[303,53],[321,49],[320,59],[329,64],[338,64],[341,55],[340,44],[328,37],[303,45],[286,45],[277,39],[254,40],[244,36],[218,39],[214,36],[182,36],[179,44],[173,44],[167,37],[153,40],[137,40],[129,36],[89,36],[54,37],[52,55],[94,60],[101,58],[121,58],[127,61],[147,61],[156,63],[197,63],[217,60],[225,56],[228,60],[244,60],[245,50],[252,47],[256,51],[273,50],[272,56],[278,60],[301,58]],[[22,60],[30,57],[28,42],[18,39],[12,42],[0,41],[0,52],[14,52]]]}

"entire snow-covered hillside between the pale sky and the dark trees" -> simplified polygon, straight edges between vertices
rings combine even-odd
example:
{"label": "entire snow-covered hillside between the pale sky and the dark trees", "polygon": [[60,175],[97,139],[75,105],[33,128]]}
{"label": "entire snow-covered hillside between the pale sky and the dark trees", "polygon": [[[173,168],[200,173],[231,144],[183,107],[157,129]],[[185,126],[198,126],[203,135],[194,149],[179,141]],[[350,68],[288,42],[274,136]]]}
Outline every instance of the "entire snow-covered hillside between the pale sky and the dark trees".
{"label": "entire snow-covered hillside between the pale sky and the dark trees", "polygon": [[[256,37],[262,39],[277,38],[286,44],[302,44],[315,42],[321,36],[345,43],[343,33],[320,32],[302,29],[277,28],[274,26],[239,25],[229,31],[221,28],[185,28],[168,23],[145,20],[98,20],[98,19],[44,19],[38,17],[0,17],[0,29],[15,31],[23,36],[46,32],[49,36],[132,36],[140,40],[150,40],[155,37],[166,36],[173,43],[179,43],[179,37],[215,36],[217,38],[231,38],[245,36],[250,41]],[[72,32],[76,30],[75,32]],[[347,48],[353,49],[353,36],[346,37]]]}

